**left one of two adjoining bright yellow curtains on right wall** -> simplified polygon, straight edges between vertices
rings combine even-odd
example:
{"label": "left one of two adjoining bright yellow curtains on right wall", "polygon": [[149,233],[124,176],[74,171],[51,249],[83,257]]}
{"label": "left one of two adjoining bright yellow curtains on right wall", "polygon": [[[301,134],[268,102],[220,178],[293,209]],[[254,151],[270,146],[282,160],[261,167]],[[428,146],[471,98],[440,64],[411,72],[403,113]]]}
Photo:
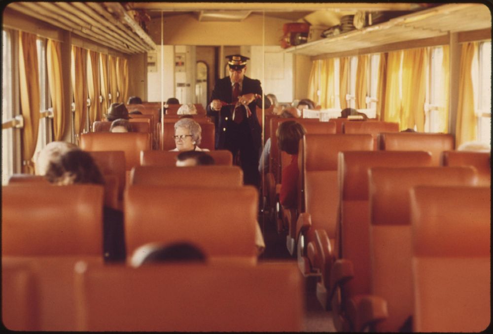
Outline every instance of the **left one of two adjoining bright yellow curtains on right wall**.
{"label": "left one of two adjoining bright yellow curtains on right wall", "polygon": [[384,120],[399,122],[401,115],[401,98],[399,93],[399,71],[402,51],[389,52],[387,56],[387,84],[385,89]]}

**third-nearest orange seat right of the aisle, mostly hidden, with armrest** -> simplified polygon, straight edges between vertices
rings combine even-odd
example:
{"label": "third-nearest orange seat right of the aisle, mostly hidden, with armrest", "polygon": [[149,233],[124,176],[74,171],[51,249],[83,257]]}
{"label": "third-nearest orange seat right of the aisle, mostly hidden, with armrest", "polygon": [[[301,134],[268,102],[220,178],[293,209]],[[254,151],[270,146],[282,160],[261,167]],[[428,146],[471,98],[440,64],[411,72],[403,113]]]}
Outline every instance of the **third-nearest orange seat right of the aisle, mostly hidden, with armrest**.
{"label": "third-nearest orange seat right of the aisle, mostly hidden, with armrest", "polygon": [[[329,280],[331,288],[329,291],[322,289],[319,296],[319,299],[324,300],[326,295],[331,301],[336,329],[360,331],[367,326],[374,326],[388,316],[385,300],[369,295],[371,292],[368,227],[370,225],[369,169],[372,167],[428,167],[431,164],[431,154],[425,151],[343,151],[339,153],[341,218],[335,242],[335,253],[338,258],[346,261],[345,263],[351,263],[352,275],[334,279],[333,270],[331,270]],[[334,274],[336,273],[334,271]],[[341,296],[344,297],[341,298]]]}

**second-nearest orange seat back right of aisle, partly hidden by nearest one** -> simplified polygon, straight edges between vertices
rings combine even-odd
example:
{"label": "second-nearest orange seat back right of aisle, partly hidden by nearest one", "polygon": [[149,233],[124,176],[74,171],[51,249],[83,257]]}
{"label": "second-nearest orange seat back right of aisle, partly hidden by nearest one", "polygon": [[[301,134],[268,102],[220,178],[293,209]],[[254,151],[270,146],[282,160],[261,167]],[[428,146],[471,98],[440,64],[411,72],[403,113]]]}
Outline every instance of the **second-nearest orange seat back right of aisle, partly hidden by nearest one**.
{"label": "second-nearest orange seat back right of aisle, partly hidden by nearest one", "polygon": [[371,237],[371,291],[387,301],[389,314],[376,331],[398,332],[413,314],[410,190],[417,185],[474,186],[476,181],[472,167],[370,169],[371,222],[366,228]]}

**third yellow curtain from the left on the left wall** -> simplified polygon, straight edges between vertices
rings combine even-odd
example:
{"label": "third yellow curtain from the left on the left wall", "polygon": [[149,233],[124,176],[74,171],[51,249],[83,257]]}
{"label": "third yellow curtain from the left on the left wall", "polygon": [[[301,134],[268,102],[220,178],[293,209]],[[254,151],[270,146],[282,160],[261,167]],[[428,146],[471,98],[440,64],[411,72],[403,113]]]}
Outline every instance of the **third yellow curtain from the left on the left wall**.
{"label": "third yellow curtain from the left on the left wall", "polygon": [[87,50],[72,46],[72,92],[75,102],[74,132],[84,131],[87,119]]}

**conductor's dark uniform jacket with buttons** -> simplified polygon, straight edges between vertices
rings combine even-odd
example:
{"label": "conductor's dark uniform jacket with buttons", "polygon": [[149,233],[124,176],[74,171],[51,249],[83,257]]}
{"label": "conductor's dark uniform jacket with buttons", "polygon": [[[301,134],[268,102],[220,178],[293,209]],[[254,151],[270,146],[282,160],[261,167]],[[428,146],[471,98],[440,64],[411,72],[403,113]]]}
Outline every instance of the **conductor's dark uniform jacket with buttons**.
{"label": "conductor's dark uniform jacket with buttons", "polygon": [[[222,102],[231,103],[233,88],[231,79],[229,76],[223,77],[216,81],[214,90],[212,91],[212,100],[221,100]],[[262,87],[260,86],[260,80],[250,79],[249,77],[243,77],[242,91],[240,95],[245,94],[258,94],[262,95]],[[271,103],[269,99],[265,98],[265,108],[269,108]],[[215,148],[224,149],[224,142],[226,138],[226,132],[228,131],[228,124],[231,122],[234,106],[223,106],[221,111],[211,110],[211,101],[207,105],[207,114],[209,116],[215,116]],[[256,106],[262,108],[262,99],[254,100],[248,105],[251,111],[251,116],[247,118],[248,125],[251,130],[253,138],[253,144],[255,149],[258,150],[262,146],[262,129],[257,119],[257,113],[255,111]],[[227,118],[227,119],[226,119]]]}

